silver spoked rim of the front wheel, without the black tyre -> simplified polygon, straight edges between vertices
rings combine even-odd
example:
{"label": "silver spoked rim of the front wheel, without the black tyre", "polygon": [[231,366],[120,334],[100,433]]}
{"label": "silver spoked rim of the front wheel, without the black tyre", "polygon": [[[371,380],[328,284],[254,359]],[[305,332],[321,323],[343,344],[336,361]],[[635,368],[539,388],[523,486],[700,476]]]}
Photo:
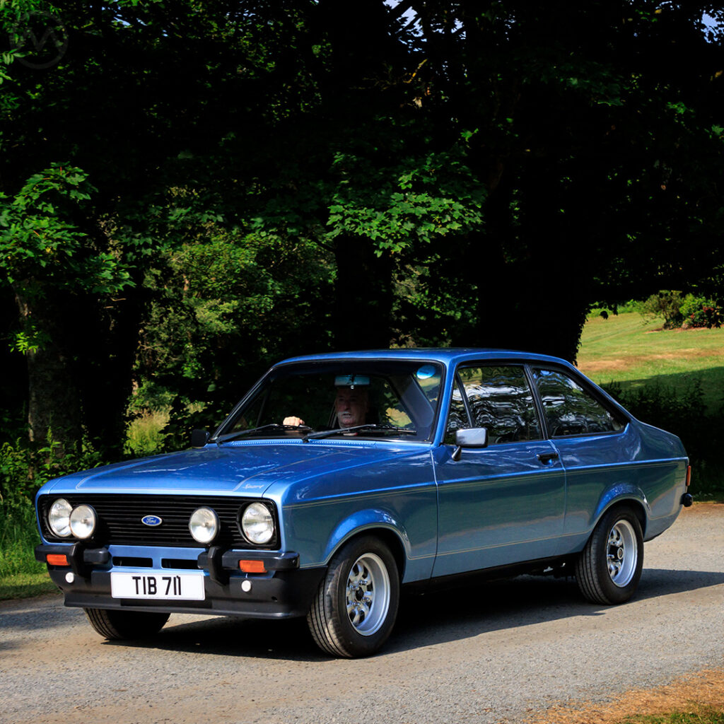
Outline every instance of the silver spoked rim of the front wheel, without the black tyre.
{"label": "silver spoked rim of the front wheel, without the black tyre", "polygon": [[364,553],[353,563],[345,591],[347,615],[361,636],[372,636],[382,628],[390,610],[390,574],[382,558]]}

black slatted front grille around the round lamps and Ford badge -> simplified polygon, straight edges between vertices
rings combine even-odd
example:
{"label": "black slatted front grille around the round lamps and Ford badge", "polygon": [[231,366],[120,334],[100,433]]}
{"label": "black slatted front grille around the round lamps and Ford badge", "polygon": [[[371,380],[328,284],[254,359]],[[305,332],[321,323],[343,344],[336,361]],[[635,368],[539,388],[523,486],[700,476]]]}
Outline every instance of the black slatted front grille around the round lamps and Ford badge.
{"label": "black slatted front grille around the round lamps and Ford badge", "polygon": [[[43,537],[51,542],[70,542],[71,538],[59,538],[48,525],[50,506],[60,497],[65,498],[73,508],[85,503],[91,505],[98,515],[98,527],[93,534],[96,545],[163,545],[172,547],[199,547],[190,534],[188,521],[196,508],[213,508],[219,516],[220,531],[214,545],[227,548],[264,548],[275,550],[279,547],[275,534],[268,544],[256,546],[243,536],[240,513],[249,503],[248,498],[232,498],[206,495],[148,495],[148,494],[55,494],[42,495],[38,500]],[[263,500],[274,515],[274,530],[279,530],[277,513],[269,501]],[[160,526],[146,526],[140,522],[144,515],[157,515]]]}

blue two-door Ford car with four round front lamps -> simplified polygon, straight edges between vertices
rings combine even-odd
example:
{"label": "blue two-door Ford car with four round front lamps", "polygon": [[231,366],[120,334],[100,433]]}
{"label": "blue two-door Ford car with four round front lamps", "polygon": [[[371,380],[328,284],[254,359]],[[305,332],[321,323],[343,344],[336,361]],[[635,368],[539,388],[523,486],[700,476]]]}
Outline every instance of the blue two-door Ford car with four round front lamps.
{"label": "blue two-door Ford car with four round front lamps", "polygon": [[628,600],[689,474],[678,437],[554,357],[313,355],[189,450],[43,486],[36,557],[106,639],[170,613],[306,616],[324,652],[359,657],[390,636],[402,586],[550,573]]}

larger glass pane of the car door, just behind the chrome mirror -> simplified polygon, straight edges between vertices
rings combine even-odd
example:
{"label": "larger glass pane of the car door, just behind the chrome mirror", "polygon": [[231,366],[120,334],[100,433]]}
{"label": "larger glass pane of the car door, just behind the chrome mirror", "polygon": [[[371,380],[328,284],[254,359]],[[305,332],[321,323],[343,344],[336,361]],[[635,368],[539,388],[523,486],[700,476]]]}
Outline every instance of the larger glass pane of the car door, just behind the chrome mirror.
{"label": "larger glass pane of the car door, just behind the chrome mirror", "polygon": [[522,366],[463,367],[459,371],[473,427],[486,427],[490,445],[541,439],[533,394]]}

